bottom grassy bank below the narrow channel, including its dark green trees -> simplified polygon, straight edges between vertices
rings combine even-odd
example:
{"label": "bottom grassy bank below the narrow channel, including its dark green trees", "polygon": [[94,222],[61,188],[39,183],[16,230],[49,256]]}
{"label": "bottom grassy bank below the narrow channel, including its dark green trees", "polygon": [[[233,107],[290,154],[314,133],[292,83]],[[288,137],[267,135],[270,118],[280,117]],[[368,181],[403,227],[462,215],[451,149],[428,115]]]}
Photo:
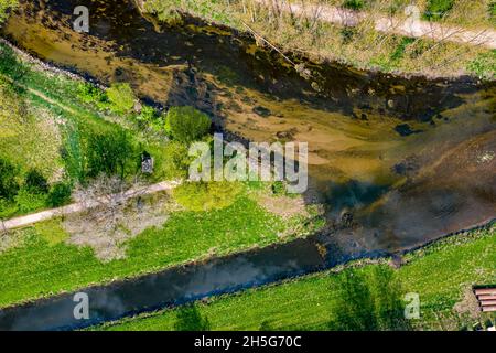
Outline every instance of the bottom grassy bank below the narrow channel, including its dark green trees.
{"label": "bottom grassy bank below the narrow channel, including its dark green trees", "polygon": [[[465,298],[473,285],[496,284],[495,227],[445,238],[405,260],[393,270],[384,264],[355,264],[337,274],[212,298],[194,310],[208,320],[212,330],[459,330],[496,320],[488,314],[481,318],[471,296]],[[401,321],[401,298],[409,292],[420,296],[421,315]],[[174,330],[181,327],[184,310],[143,314],[97,329]]]}

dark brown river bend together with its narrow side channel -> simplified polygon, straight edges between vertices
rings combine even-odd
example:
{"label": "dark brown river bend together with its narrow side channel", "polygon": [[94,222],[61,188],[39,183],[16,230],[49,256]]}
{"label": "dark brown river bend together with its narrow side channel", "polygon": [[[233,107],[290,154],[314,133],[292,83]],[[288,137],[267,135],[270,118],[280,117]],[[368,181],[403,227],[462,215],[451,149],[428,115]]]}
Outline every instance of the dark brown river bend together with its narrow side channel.
{"label": "dark brown river bend together with its narrow side channel", "polygon": [[[106,84],[130,82],[162,106],[194,105],[231,138],[309,142],[305,200],[326,204],[327,226],[304,240],[86,290],[96,298],[91,322],[75,321],[64,295],[1,311],[0,329],[84,327],[399,253],[495,217],[494,83],[407,79],[289,54],[308,69],[301,75],[228,29],[194,19],[159,29],[132,1],[21,4],[3,34],[44,61]],[[78,4],[90,10],[89,34],[72,30]]]}

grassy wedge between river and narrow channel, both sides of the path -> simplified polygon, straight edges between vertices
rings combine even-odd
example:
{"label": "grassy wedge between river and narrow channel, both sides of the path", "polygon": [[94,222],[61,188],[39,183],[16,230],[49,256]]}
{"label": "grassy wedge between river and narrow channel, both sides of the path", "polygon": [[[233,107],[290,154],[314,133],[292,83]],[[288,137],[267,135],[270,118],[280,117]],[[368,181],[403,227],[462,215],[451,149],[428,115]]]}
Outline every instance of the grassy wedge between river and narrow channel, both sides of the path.
{"label": "grassy wedge between river and narrow channel, both sides of the path", "polygon": [[[91,185],[99,173],[120,174],[120,167],[133,178],[140,153],[147,150],[155,158],[155,171],[141,176],[145,182],[161,181],[168,180],[177,167],[176,159],[187,156],[187,149],[179,141],[168,142],[158,131],[136,124],[140,117],[116,113],[132,106],[132,99],[119,99],[121,105],[110,106],[115,111],[101,109],[99,106],[109,103],[100,99],[100,90],[64,75],[40,71],[7,46],[0,50],[0,83],[4,89],[0,107],[0,159],[15,167],[10,170],[13,178],[0,183],[0,216],[34,211],[35,207],[20,210],[19,205],[33,206],[33,197],[42,194],[37,189],[33,191],[41,188],[40,180],[48,184],[60,180],[71,188],[77,183]],[[107,95],[121,97],[126,90],[120,87]],[[47,127],[50,133],[45,136]],[[159,121],[158,128],[163,129],[163,124]],[[132,150],[125,152],[133,157],[118,161],[115,168],[115,163],[108,163],[112,157],[109,154],[121,152],[115,150],[122,146],[115,137],[122,135]],[[37,182],[24,181],[32,169],[42,175]],[[19,181],[21,190],[26,189],[29,202],[22,203],[24,199],[19,197],[20,191],[10,183],[12,179]],[[234,185],[213,190],[198,184],[198,190],[188,194],[180,189],[172,197],[155,195],[150,202],[157,203],[150,205],[132,202],[111,212],[96,210],[1,233],[0,308],[283,242],[305,234],[313,226],[312,222],[305,223],[309,218],[283,217],[267,211],[257,195],[271,193],[270,185]],[[187,188],[194,189],[195,184]],[[10,191],[14,196],[6,199]],[[208,205],[208,210],[202,205]]]}

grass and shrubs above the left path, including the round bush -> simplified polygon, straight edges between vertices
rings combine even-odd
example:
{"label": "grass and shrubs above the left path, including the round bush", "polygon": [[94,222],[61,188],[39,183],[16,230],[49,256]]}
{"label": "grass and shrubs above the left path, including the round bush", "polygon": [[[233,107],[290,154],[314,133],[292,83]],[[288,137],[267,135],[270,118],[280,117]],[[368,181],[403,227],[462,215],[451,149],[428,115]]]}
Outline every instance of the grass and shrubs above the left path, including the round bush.
{"label": "grass and shrubs above the left path, including the round bush", "polygon": [[[187,143],[208,132],[211,120],[191,107],[172,108],[166,142],[164,116],[142,105],[128,84],[107,90],[63,75],[46,75],[0,46],[0,217],[71,201],[72,189],[99,174],[128,181],[140,174],[141,154],[154,158],[150,182],[184,178]],[[26,183],[36,172],[46,185]],[[24,188],[25,186],[25,188]]]}

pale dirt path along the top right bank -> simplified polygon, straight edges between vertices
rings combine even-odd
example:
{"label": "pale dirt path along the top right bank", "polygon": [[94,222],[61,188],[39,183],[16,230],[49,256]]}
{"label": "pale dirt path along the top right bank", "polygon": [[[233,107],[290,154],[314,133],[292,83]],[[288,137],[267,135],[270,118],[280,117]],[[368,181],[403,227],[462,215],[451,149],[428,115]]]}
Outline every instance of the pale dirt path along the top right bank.
{"label": "pale dirt path along the top right bank", "polygon": [[[256,0],[258,3],[272,7],[273,0]],[[356,25],[362,20],[374,21],[379,32],[393,33],[411,38],[428,38],[434,41],[449,41],[462,44],[481,45],[496,49],[496,31],[490,29],[470,30],[456,25],[446,25],[420,20],[420,11],[416,7],[407,9],[406,19],[392,17],[370,17],[367,12],[352,11],[336,7],[319,4],[299,4],[276,0],[277,7],[288,13],[303,14],[321,21],[341,25]]]}

